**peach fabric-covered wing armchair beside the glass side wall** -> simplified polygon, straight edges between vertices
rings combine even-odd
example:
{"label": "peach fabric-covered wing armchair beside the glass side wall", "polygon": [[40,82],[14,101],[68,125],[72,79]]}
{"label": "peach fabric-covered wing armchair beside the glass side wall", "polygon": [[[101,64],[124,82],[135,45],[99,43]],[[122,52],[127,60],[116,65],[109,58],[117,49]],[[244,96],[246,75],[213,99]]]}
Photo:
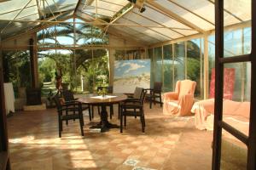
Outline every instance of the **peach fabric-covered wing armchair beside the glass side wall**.
{"label": "peach fabric-covered wing armchair beside the glass side wall", "polygon": [[194,103],[196,82],[177,81],[175,92],[164,94],[164,115],[189,116]]}

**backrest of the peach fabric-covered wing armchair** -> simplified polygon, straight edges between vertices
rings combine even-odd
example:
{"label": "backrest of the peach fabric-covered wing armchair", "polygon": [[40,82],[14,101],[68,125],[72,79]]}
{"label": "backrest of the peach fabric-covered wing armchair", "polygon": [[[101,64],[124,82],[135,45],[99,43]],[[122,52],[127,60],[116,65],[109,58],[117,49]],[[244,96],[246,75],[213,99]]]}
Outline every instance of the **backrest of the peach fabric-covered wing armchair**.
{"label": "backrest of the peach fabric-covered wing armchair", "polygon": [[175,91],[178,93],[178,98],[184,94],[193,94],[195,93],[196,82],[191,80],[177,81]]}

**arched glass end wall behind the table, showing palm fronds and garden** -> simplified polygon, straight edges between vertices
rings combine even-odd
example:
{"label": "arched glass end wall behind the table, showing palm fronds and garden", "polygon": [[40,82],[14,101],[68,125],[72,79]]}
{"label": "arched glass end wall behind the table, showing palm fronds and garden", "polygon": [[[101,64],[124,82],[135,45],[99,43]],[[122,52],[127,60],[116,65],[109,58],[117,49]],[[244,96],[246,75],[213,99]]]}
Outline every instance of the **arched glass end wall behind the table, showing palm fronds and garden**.
{"label": "arched glass end wall behind the table, showing palm fronds and garden", "polygon": [[108,55],[104,48],[86,49],[86,46],[108,44],[108,34],[83,20],[66,21],[38,31],[40,79],[53,84],[51,88],[55,90],[55,73],[62,74],[62,82],[74,91],[93,92],[97,76],[103,74],[108,81]]}

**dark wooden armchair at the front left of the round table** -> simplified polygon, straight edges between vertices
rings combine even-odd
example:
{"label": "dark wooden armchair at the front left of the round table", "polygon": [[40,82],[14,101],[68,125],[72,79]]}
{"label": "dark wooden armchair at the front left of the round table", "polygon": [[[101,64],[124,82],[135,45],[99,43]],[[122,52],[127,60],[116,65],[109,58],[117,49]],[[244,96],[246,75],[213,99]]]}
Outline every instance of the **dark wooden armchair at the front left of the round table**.
{"label": "dark wooden armchair at the front left of the round table", "polygon": [[[81,134],[82,136],[84,136],[84,129],[83,129],[84,118],[83,118],[82,104],[77,101],[73,101],[73,102],[68,102],[66,104],[61,105],[59,95],[55,95],[54,100],[55,100],[55,105],[57,106],[57,112],[58,112],[59,137],[61,138],[61,132],[63,130],[62,122],[68,121],[68,120],[76,120],[76,119],[79,119]],[[63,111],[65,111],[66,113],[70,111],[72,112],[72,114],[63,115]]]}

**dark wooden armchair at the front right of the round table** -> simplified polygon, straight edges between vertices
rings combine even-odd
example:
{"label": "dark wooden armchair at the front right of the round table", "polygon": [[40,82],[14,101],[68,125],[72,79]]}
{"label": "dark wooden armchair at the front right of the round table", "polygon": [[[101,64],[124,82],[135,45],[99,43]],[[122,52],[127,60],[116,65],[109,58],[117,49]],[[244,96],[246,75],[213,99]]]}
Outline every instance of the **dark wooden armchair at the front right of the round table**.
{"label": "dark wooden armchair at the front right of the round table", "polygon": [[120,133],[123,133],[123,121],[124,126],[126,127],[126,116],[139,116],[142,123],[143,133],[145,132],[145,116],[143,104],[147,91],[143,88],[137,88],[137,91],[140,91],[139,99],[126,99],[121,105],[120,111]]}

